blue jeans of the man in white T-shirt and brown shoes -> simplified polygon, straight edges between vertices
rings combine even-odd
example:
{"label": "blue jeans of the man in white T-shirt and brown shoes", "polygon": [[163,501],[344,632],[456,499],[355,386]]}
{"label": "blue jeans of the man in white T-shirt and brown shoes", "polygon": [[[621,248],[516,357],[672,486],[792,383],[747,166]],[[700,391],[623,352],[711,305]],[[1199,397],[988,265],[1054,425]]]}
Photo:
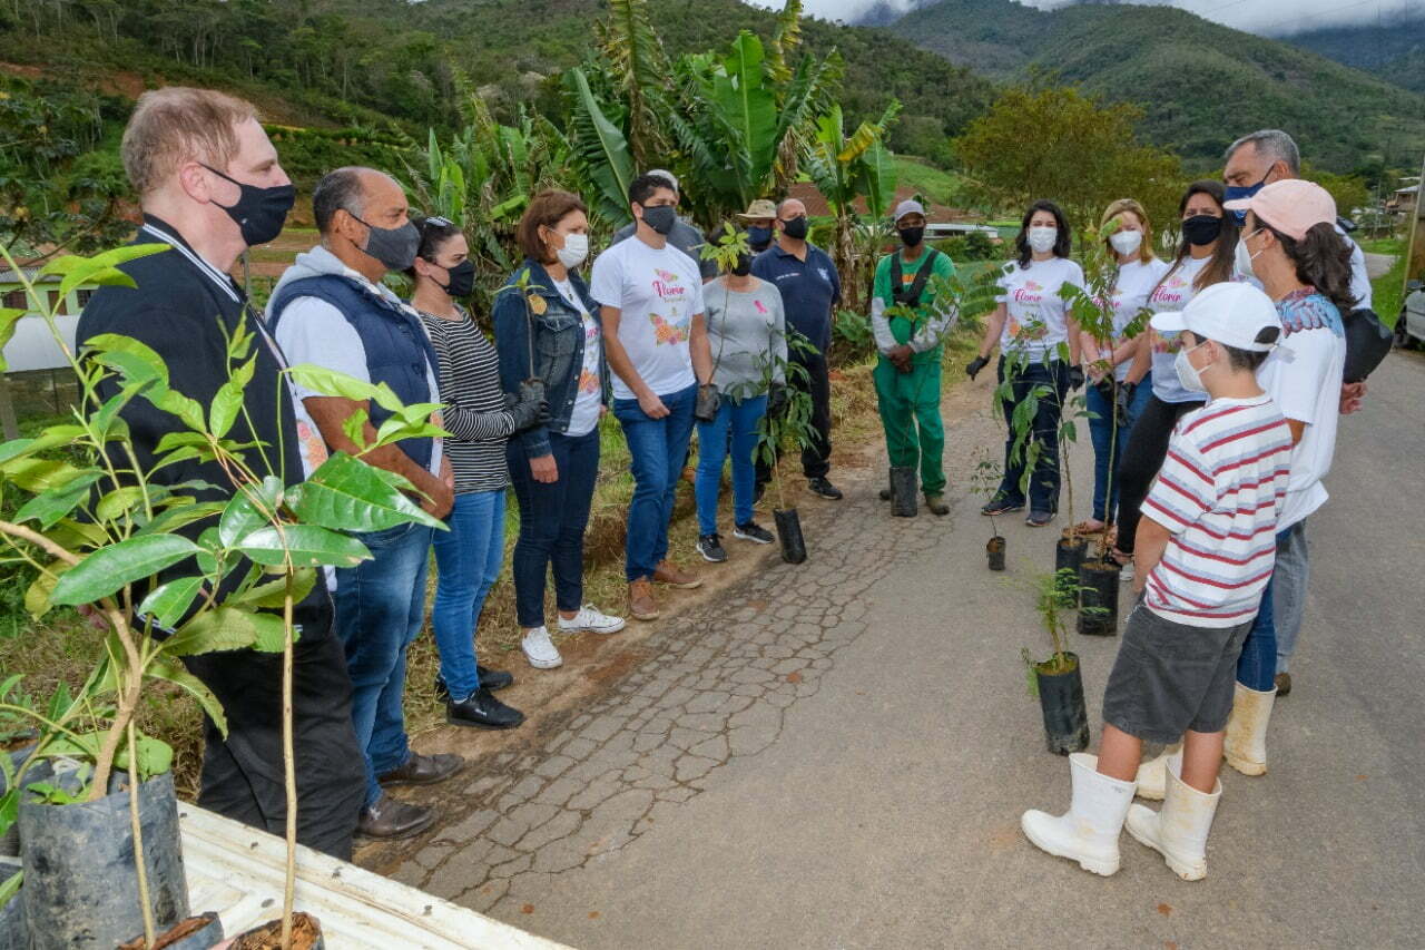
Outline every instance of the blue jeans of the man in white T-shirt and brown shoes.
{"label": "blue jeans of the man in white T-shirt and brown shoes", "polygon": [[668,522],[678,475],[688,458],[693,436],[693,407],[698,388],[658,395],[668,415],[650,418],[637,399],[614,399],[614,417],[628,441],[633,468],[633,501],[628,502],[628,541],[624,546],[624,576],[631,582],[651,578],[668,556]]}

